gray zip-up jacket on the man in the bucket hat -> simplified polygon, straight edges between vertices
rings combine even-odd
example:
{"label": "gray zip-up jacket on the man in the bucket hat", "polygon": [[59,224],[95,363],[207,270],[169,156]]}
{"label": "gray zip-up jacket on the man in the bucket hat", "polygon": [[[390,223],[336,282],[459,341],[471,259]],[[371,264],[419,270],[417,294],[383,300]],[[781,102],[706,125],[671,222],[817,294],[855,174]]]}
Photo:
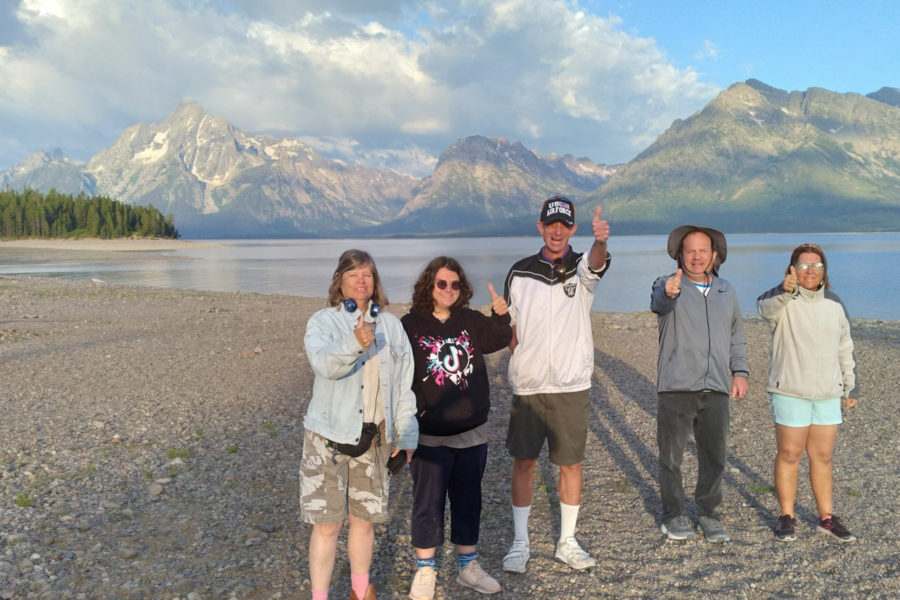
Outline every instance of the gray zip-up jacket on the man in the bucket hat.
{"label": "gray zip-up jacket on the man in the bucket hat", "polygon": [[659,277],[650,293],[650,310],[659,326],[656,389],[730,395],[732,376],[750,375],[737,294],[730,283],[712,277],[704,296],[682,276],[681,294],[669,298],[666,280],[671,276]]}

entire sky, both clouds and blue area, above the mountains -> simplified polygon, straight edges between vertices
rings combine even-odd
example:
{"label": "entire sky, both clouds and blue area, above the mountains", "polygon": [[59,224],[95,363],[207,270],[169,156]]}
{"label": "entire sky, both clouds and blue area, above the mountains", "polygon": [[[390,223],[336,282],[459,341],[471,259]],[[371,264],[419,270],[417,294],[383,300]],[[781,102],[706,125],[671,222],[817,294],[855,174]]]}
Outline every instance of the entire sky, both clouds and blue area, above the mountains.
{"label": "entire sky, both clouds and blue area, above the mountains", "polygon": [[751,77],[900,87],[898,31],[894,0],[0,0],[0,171],[186,100],[418,176],[475,134],[621,163]]}

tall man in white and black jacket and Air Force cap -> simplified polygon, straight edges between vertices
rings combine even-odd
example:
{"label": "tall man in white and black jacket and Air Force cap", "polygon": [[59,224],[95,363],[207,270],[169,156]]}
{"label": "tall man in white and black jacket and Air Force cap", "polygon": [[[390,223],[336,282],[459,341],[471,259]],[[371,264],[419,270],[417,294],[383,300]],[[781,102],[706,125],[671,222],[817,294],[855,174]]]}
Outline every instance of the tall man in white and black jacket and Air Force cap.
{"label": "tall man in white and black jacket and Air Force cap", "polygon": [[609,223],[597,206],[591,222],[594,241],[587,254],[569,240],[578,225],[571,200],[554,196],[541,208],[541,250],[518,261],[506,276],[504,295],[513,318],[513,390],[506,447],[513,457],[514,539],[503,570],[524,573],[531,556],[528,517],[534,469],[547,441],[550,462],[559,466],[560,537],[556,558],[573,569],[595,560],[575,539],[581,506],[582,473],[590,421],[594,337],[590,310],[594,289],[609,268]]}

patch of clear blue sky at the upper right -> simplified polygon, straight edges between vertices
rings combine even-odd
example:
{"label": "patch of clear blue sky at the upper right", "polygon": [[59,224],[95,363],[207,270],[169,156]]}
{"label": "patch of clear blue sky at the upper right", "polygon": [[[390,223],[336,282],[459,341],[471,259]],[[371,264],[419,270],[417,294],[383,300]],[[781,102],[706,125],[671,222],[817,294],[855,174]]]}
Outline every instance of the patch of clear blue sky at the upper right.
{"label": "patch of clear blue sky at the upper right", "polygon": [[678,68],[725,88],[751,77],[786,90],[900,87],[900,2],[583,2],[651,37]]}

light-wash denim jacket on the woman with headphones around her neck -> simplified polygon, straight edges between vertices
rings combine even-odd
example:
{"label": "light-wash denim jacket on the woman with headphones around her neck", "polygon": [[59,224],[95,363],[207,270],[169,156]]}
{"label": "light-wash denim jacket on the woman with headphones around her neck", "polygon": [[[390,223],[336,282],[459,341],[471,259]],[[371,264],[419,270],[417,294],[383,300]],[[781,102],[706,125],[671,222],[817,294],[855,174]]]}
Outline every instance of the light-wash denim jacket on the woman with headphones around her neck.
{"label": "light-wash denim jacket on the woman with headphones around her neck", "polygon": [[[356,443],[363,424],[363,364],[367,352],[353,333],[359,310],[322,309],[306,324],[306,356],[315,374],[303,426],[332,441]],[[386,442],[415,448],[419,439],[412,348],[400,319],[382,312],[375,319]]]}

